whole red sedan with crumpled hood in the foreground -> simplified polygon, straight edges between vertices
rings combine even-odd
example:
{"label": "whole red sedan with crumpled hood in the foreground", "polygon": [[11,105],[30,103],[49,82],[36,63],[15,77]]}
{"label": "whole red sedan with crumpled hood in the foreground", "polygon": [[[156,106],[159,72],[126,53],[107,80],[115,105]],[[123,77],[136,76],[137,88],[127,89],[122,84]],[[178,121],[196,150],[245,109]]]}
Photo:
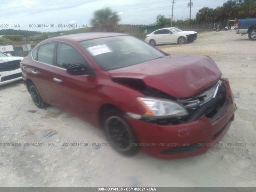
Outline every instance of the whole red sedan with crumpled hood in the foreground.
{"label": "whole red sedan with crumpled hood in the foreground", "polygon": [[211,58],[169,55],[126,34],[50,38],[21,68],[36,106],[50,104],[102,128],[122,154],[202,154],[234,120],[228,80]]}

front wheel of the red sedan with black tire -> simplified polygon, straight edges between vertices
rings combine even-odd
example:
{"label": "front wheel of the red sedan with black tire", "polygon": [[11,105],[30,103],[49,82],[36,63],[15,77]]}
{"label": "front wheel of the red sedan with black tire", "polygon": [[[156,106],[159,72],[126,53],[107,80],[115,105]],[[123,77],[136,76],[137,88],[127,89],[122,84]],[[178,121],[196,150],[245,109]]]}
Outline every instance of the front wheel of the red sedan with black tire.
{"label": "front wheel of the red sedan with black tire", "polygon": [[116,109],[106,112],[103,118],[103,128],[114,150],[128,156],[137,154],[138,139],[130,124],[124,119],[122,112]]}

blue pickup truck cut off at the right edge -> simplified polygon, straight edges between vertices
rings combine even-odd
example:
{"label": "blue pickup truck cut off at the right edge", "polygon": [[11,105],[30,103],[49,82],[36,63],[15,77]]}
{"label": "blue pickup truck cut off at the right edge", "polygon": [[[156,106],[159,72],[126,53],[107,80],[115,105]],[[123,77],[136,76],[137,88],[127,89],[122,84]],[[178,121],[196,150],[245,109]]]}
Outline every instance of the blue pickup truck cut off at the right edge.
{"label": "blue pickup truck cut off at the right edge", "polygon": [[256,40],[256,18],[239,19],[236,33],[242,35],[248,33],[250,40]]}

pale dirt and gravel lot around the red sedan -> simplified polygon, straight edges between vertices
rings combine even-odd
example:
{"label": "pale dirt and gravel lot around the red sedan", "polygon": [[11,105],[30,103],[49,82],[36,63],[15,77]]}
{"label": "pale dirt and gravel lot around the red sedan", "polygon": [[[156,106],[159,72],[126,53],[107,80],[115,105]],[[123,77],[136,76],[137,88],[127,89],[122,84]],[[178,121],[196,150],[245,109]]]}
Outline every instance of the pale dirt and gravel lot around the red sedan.
{"label": "pale dirt and gravel lot around the red sedan", "polygon": [[0,186],[256,186],[256,42],[232,30],[203,32],[193,43],[158,48],[210,56],[233,93],[240,93],[235,120],[220,141],[224,146],[178,160],[63,146],[106,140],[101,130],[67,112],[36,108],[22,82],[14,82],[0,87],[0,143],[23,146],[0,146]]}

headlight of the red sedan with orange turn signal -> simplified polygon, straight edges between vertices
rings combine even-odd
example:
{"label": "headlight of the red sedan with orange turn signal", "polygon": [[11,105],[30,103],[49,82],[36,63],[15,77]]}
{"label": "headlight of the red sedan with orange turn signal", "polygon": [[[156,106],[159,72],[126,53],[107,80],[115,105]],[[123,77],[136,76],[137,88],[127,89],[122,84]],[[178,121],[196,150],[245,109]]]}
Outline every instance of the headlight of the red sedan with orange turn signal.
{"label": "headlight of the red sedan with orange turn signal", "polygon": [[145,109],[143,116],[149,118],[178,118],[188,115],[188,111],[177,102],[156,99],[149,97],[138,97],[138,102],[142,104]]}

